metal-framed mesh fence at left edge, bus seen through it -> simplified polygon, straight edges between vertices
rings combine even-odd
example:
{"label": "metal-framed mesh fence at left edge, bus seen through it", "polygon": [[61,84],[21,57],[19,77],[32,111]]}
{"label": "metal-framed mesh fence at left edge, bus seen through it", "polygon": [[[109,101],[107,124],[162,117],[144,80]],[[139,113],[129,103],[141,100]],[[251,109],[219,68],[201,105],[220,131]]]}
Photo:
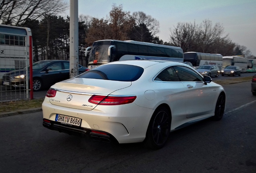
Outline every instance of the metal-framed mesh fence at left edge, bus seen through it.
{"label": "metal-framed mesh fence at left edge, bus seen through it", "polygon": [[0,25],[0,101],[29,99],[29,69],[25,67],[31,50],[29,28]]}

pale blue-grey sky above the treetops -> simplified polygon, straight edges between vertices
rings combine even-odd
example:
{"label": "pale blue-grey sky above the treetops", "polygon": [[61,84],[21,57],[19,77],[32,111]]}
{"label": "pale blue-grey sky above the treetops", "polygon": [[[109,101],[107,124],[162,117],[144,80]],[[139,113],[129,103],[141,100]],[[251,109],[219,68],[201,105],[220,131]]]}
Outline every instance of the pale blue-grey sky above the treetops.
{"label": "pale blue-grey sky above the treetops", "polygon": [[[160,32],[156,36],[164,42],[169,42],[169,28],[179,22],[220,23],[224,35],[256,56],[256,0],[78,0],[78,15],[106,19],[113,4],[122,5],[125,12],[142,11],[158,20]],[[69,11],[66,15],[70,16]]]}

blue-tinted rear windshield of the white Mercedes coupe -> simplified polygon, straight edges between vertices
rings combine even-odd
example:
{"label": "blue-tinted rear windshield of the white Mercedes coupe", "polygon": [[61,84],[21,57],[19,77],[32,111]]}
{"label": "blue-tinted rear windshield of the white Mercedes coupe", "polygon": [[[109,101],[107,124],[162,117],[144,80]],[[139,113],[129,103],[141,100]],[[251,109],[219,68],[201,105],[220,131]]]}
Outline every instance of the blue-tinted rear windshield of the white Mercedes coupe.
{"label": "blue-tinted rear windshield of the white Mercedes coupe", "polygon": [[77,78],[94,78],[103,80],[135,81],[142,75],[144,69],[139,66],[128,64],[107,64],[97,66],[84,72]]}

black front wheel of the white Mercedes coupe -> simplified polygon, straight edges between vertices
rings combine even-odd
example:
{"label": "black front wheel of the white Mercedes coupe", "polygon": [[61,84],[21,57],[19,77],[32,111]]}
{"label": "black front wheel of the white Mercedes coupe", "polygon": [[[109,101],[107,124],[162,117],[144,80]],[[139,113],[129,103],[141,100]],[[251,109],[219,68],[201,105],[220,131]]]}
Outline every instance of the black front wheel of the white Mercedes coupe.
{"label": "black front wheel of the white Mercedes coupe", "polygon": [[225,101],[226,101],[225,95],[220,94],[215,107],[215,115],[213,116],[213,119],[215,121],[219,121],[222,119],[225,111]]}

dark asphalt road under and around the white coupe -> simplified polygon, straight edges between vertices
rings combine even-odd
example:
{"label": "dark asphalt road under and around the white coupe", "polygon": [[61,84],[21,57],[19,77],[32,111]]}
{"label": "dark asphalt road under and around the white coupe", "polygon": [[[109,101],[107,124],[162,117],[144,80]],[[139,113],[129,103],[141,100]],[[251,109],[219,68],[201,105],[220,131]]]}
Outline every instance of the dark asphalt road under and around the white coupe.
{"label": "dark asphalt road under and around the white coupe", "polygon": [[0,172],[256,173],[256,97],[250,82],[223,87],[227,106],[221,121],[174,131],[159,150],[51,131],[42,126],[42,112],[2,117]]}

